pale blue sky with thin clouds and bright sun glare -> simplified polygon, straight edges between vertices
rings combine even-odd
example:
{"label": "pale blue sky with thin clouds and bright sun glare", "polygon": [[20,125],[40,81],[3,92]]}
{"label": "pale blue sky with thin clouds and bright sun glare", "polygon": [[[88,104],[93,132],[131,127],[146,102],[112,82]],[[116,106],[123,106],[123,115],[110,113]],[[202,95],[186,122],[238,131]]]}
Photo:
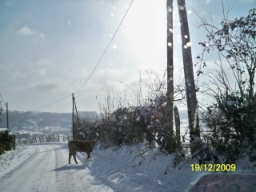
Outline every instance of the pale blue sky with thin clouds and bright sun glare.
{"label": "pale blue sky with thin clouds and bright sun glare", "polygon": [[[162,77],[166,70],[166,0],[131,2],[0,1],[3,109],[8,102],[9,110],[72,112],[74,93],[78,110],[99,111],[98,103],[106,100],[107,93],[132,95],[132,90],[140,86],[140,74],[143,81],[149,81],[146,70]],[[223,4],[226,10],[232,7],[232,19],[246,16],[256,0],[223,0]],[[198,42],[206,39],[206,33],[195,25],[199,18],[194,11],[219,24],[223,18],[222,1],[186,1],[186,6],[195,62],[196,56],[202,54]],[[183,73],[181,46],[174,1],[176,80]]]}

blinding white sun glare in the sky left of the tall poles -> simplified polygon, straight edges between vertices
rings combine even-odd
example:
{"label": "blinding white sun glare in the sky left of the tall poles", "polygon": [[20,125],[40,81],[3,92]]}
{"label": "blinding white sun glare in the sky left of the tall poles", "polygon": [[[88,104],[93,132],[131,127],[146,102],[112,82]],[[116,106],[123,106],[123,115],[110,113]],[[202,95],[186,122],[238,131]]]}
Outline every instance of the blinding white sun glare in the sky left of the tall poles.
{"label": "blinding white sun glare in the sky left of the tall poles", "polygon": [[166,48],[166,1],[135,1],[123,29],[126,31],[126,45],[146,62],[147,68],[153,68],[155,61],[159,61],[159,54]]}

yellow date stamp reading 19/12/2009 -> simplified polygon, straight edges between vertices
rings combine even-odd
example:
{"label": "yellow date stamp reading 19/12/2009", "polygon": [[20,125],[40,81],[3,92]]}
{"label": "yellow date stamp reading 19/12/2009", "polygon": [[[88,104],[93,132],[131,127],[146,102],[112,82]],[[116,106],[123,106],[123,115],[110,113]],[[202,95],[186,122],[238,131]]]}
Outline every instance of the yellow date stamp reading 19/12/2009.
{"label": "yellow date stamp reading 19/12/2009", "polygon": [[235,171],[235,164],[191,164],[192,171]]}

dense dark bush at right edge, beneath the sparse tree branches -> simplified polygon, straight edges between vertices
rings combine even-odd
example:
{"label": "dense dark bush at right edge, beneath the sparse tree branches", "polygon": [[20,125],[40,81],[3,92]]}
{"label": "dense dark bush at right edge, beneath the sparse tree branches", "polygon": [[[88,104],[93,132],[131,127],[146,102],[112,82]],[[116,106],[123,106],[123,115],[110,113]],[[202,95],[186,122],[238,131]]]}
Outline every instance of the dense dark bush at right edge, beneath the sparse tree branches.
{"label": "dense dark bush at right edge, beneath the sparse tree branches", "polygon": [[[255,95],[256,96],[256,95]],[[250,102],[241,95],[217,95],[216,102],[208,106],[202,114],[202,121],[208,128],[208,134],[202,136],[206,142],[202,151],[214,149],[215,156],[204,160],[226,162],[235,161],[249,155],[251,162],[256,162],[254,146],[256,145],[256,100]],[[201,158],[202,159],[202,158]]]}

